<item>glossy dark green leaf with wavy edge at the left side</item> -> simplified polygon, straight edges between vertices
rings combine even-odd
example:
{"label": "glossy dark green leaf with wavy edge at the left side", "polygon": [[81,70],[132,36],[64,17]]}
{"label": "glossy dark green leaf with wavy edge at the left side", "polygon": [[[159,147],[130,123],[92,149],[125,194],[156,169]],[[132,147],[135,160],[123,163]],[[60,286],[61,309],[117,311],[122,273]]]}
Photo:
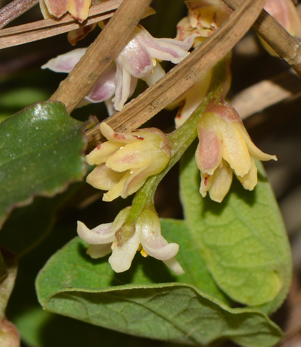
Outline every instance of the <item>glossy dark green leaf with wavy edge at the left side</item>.
{"label": "glossy dark green leaf with wavy edge at the left side", "polygon": [[83,126],[59,102],[36,103],[1,122],[0,225],[14,207],[82,179]]}

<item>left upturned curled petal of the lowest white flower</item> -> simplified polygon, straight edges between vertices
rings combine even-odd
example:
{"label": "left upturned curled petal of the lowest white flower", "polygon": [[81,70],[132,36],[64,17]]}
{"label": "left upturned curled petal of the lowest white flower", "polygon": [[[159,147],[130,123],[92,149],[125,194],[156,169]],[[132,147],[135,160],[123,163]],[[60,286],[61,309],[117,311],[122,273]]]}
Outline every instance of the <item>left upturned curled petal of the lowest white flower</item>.
{"label": "left upturned curled petal of the lowest white flower", "polygon": [[78,234],[81,239],[91,245],[105,244],[113,242],[115,238],[116,228],[112,228],[113,223],[106,223],[97,226],[94,229],[87,228],[84,223],[78,221]]}

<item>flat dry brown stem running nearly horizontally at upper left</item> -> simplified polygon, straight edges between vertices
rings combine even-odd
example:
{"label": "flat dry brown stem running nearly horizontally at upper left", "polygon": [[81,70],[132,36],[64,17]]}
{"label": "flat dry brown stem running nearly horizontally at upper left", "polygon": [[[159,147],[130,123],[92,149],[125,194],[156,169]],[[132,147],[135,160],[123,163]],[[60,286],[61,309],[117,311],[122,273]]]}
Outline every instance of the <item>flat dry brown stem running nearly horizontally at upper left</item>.
{"label": "flat dry brown stem running nearly horizontally at upper left", "polygon": [[23,24],[0,30],[0,49],[19,45],[26,42],[41,40],[46,37],[66,33],[84,25],[96,23],[100,20],[112,17],[114,10],[119,7],[122,0],[109,0],[95,6],[91,6],[89,17],[80,24],[70,14],[60,18],[43,19],[37,22]]}

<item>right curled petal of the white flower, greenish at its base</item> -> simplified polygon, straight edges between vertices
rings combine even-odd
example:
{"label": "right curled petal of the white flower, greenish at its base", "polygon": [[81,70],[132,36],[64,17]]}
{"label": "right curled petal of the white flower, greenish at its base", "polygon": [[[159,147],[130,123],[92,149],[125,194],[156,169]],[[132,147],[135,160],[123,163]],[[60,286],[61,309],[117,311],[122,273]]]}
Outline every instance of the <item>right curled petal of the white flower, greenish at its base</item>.
{"label": "right curled petal of the white flower, greenish at its base", "polygon": [[158,216],[150,210],[144,210],[136,222],[136,232],[140,234],[143,249],[150,256],[159,260],[168,260],[179,251],[179,245],[168,243],[161,235]]}

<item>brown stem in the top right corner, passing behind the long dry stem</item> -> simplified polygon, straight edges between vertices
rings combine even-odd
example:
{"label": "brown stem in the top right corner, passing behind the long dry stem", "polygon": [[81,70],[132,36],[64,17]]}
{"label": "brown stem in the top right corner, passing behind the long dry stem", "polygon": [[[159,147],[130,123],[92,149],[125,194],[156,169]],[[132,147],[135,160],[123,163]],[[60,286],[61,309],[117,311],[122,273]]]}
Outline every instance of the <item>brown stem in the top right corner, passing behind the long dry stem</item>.
{"label": "brown stem in the top right corner, passing behind the long dry stem", "polygon": [[[239,5],[238,0],[223,0],[223,2],[232,9],[236,9]],[[262,10],[252,28],[301,76],[300,43],[274,17],[266,10]]]}

